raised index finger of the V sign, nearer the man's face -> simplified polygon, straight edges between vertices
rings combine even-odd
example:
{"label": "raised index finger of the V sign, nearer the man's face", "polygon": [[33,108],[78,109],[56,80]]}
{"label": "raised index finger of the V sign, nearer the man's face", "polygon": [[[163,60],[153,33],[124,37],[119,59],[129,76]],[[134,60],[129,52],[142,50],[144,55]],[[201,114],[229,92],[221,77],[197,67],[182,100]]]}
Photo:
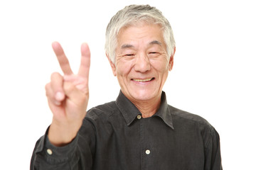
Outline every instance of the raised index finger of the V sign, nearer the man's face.
{"label": "raised index finger of the V sign, nearer the man's face", "polygon": [[81,64],[78,71],[78,75],[86,79],[89,78],[90,70],[90,49],[87,43],[81,45]]}

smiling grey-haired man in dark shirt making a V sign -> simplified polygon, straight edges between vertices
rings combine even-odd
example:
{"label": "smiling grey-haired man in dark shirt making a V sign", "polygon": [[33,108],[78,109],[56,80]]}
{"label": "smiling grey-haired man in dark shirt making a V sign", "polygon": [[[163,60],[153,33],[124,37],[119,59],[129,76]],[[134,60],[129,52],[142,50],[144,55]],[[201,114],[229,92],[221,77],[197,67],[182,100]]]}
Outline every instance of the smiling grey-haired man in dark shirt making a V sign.
{"label": "smiling grey-haired man in dark shirt making a V sign", "polygon": [[36,143],[31,169],[222,169],[218,132],[166,102],[162,88],[176,48],[161,12],[136,5],[117,12],[105,49],[121,91],[86,112],[89,48],[82,44],[75,75],[53,42],[64,76],[53,73],[46,84],[53,122]]}

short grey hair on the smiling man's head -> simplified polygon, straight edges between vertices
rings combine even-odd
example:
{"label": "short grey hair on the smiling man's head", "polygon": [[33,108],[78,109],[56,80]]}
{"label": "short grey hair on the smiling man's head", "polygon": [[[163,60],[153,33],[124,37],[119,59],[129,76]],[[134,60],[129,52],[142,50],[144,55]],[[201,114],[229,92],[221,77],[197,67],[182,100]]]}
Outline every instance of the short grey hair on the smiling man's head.
{"label": "short grey hair on the smiling man's head", "polygon": [[137,23],[146,22],[158,24],[164,31],[164,41],[168,57],[174,55],[174,33],[169,21],[155,7],[149,5],[130,5],[118,11],[110,20],[106,30],[105,51],[113,63],[115,63],[115,50],[117,48],[117,35],[121,28],[134,26]]}

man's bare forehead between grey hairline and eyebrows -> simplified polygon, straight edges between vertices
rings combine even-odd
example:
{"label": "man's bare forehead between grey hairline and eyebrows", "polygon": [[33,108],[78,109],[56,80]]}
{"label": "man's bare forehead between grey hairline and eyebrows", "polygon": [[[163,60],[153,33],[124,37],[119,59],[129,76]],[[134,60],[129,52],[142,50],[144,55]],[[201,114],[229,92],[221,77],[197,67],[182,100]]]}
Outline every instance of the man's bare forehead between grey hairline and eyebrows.
{"label": "man's bare forehead between grey hairline and eyebrows", "polygon": [[117,35],[119,47],[129,47],[133,44],[163,45],[163,29],[157,24],[140,23],[137,26],[126,26]]}

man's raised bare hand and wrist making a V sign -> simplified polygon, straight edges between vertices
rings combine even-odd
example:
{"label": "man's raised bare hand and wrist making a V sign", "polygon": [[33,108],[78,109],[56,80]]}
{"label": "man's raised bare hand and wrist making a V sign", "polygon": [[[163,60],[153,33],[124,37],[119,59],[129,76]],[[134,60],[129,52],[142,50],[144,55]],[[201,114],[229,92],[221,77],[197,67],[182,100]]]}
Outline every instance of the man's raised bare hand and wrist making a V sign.
{"label": "man's raised bare hand and wrist making a V sign", "polygon": [[46,84],[48,105],[53,113],[48,138],[53,145],[63,146],[77,135],[86,115],[90,50],[86,43],[81,45],[80,68],[78,74],[73,74],[63,48],[58,42],[53,42],[52,46],[64,76],[55,72]]}

